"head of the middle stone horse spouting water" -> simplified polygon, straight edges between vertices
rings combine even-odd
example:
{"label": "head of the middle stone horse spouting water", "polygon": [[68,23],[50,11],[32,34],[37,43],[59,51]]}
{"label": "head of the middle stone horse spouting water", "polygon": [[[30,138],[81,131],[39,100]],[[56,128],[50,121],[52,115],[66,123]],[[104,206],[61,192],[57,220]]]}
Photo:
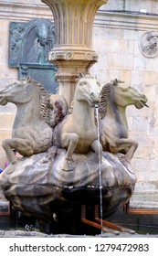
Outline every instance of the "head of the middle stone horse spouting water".
{"label": "head of the middle stone horse spouting water", "polygon": [[90,75],[80,75],[77,83],[75,97],[78,101],[87,101],[90,107],[100,102],[100,82]]}

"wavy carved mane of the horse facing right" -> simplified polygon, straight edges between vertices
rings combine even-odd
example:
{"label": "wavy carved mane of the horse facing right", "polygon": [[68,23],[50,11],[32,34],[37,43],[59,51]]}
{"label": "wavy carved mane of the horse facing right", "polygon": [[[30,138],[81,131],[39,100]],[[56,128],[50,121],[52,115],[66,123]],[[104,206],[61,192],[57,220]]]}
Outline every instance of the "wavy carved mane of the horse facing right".
{"label": "wavy carved mane of the horse facing right", "polygon": [[107,111],[107,102],[109,101],[110,91],[112,86],[117,86],[119,83],[124,83],[122,80],[111,80],[111,82],[106,83],[100,92],[100,106],[99,113],[100,118],[102,119]]}

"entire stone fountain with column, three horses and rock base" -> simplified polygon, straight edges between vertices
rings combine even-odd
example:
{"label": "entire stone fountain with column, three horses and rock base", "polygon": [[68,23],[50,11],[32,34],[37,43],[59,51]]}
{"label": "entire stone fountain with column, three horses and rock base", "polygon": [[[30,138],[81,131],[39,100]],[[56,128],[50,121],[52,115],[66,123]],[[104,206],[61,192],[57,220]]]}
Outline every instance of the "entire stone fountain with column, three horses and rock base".
{"label": "entire stone fountain with column, three horses and rock base", "polygon": [[[51,232],[79,234],[85,222],[81,208],[86,206],[91,219],[101,203],[99,215],[102,212],[105,219],[132,197],[136,177],[130,161],[138,145],[128,138],[125,108],[133,104],[141,109],[147,99],[130,88],[136,100],[125,101],[121,110],[125,134],[117,138],[121,125],[114,124],[121,118],[108,118],[102,110],[105,105],[107,112],[114,109],[107,99],[114,94],[117,99],[122,82],[113,80],[101,89],[100,81],[89,74],[97,61],[91,43],[93,19],[107,1],[43,2],[55,19],[57,41],[49,61],[58,67],[59,90],[50,95],[37,81],[26,78],[0,91],[1,105],[10,101],[17,106],[13,136],[3,142],[8,165],[0,182],[17,210],[51,223]],[[112,136],[105,123],[116,127]],[[13,148],[23,157],[17,160]]]}

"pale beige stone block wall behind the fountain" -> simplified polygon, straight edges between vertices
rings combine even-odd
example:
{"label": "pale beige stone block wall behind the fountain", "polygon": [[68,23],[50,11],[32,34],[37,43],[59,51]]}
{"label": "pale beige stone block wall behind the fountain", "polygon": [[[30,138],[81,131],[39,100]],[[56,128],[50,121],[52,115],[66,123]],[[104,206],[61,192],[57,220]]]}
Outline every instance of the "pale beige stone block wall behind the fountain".
{"label": "pale beige stone block wall behind the fountain", "polygon": [[[109,0],[94,21],[93,47],[99,61],[90,70],[102,85],[115,78],[131,83],[149,99],[149,108],[128,108],[130,137],[139,143],[132,160],[137,176],[133,200],[157,200],[158,187],[158,57],[146,58],[139,44],[147,31],[158,31],[158,2]],[[52,19],[40,0],[0,0],[0,88],[17,79],[17,69],[8,68],[8,27],[10,21],[36,17]],[[0,106],[0,167],[5,162],[2,141],[11,136],[16,107]],[[143,191],[143,192],[142,192]],[[140,196],[141,195],[141,196]],[[142,198],[142,196],[144,196]],[[142,198],[142,199],[141,199]]]}

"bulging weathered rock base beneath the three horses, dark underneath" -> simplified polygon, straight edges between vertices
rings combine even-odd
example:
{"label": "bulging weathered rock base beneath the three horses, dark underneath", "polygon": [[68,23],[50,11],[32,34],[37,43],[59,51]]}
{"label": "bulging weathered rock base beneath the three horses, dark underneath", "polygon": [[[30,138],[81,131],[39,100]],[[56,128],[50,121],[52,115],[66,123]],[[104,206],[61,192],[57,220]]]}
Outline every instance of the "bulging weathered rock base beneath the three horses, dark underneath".
{"label": "bulging weathered rock base beneath the three horses, dark underneath", "polygon": [[58,212],[80,212],[81,205],[100,205],[100,173],[104,217],[132,196],[135,175],[117,155],[103,152],[99,170],[93,152],[74,154],[76,168],[66,172],[61,168],[66,150],[51,150],[52,154],[49,151],[21,158],[15,165],[8,165],[0,176],[5,197],[25,214],[53,220],[54,213],[58,218]]}

